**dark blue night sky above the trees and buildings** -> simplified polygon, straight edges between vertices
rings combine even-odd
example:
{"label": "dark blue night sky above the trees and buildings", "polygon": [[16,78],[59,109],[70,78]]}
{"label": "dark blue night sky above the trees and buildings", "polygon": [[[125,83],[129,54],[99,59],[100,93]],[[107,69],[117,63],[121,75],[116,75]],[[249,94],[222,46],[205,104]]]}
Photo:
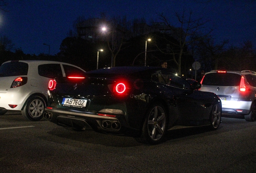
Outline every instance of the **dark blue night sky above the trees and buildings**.
{"label": "dark blue night sky above the trees and buildings", "polygon": [[[229,45],[241,46],[250,40],[256,46],[256,0],[6,0],[8,6],[0,11],[0,36],[6,36],[25,54],[59,52],[60,44],[74,30],[73,22],[79,16],[126,16],[128,19],[145,18],[161,22],[163,13],[173,26],[178,25],[175,12],[187,14],[192,10],[194,19],[210,20],[209,28],[216,28],[216,43],[224,39]],[[13,51],[14,51],[13,50]]]}

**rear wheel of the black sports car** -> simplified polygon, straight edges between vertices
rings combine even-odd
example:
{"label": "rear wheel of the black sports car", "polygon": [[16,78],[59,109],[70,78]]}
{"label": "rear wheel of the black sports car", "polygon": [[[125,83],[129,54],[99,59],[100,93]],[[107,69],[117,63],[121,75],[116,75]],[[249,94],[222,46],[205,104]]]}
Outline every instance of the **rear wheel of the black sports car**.
{"label": "rear wheel of the black sports car", "polygon": [[136,140],[145,144],[159,144],[164,139],[166,129],[167,112],[161,103],[156,103],[147,110],[142,134]]}

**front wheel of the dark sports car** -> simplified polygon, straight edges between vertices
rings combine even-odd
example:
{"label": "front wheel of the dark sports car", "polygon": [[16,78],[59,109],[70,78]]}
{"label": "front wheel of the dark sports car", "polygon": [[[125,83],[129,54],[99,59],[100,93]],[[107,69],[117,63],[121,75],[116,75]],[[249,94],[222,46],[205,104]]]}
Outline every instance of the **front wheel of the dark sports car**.
{"label": "front wheel of the dark sports car", "polygon": [[210,115],[210,123],[211,123],[211,130],[217,130],[219,124],[221,123],[221,107],[218,103],[213,105],[211,115]]}

